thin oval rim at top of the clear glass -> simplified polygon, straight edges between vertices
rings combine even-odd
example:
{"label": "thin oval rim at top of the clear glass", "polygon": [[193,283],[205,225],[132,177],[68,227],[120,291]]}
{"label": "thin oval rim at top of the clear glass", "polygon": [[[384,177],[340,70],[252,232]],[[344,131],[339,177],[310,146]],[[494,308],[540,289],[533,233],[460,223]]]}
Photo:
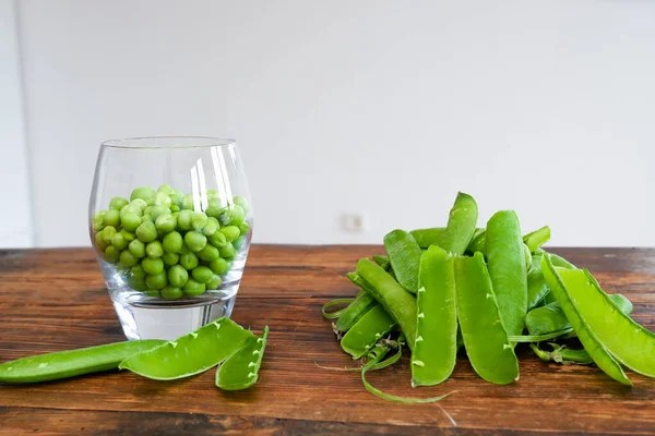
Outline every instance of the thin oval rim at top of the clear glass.
{"label": "thin oval rim at top of the clear glass", "polygon": [[104,141],[100,147],[163,149],[225,147],[236,144],[235,140],[214,136],[136,136]]}

